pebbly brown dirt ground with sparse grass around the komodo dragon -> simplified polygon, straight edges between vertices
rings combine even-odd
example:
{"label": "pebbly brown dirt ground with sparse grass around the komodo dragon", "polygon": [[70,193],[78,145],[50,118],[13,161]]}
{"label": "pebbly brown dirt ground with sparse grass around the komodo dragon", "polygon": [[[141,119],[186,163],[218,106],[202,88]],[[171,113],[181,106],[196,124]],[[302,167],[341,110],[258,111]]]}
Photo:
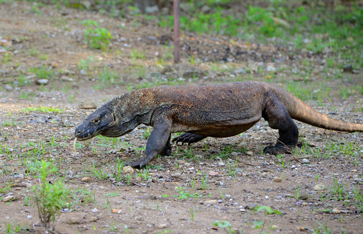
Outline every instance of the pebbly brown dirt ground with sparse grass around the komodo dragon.
{"label": "pebbly brown dirt ground with sparse grass around the komodo dragon", "polygon": [[[157,78],[152,73],[176,78],[184,74],[183,85],[268,80],[286,88],[288,82],[302,79],[301,88],[307,86],[311,93],[319,92],[319,87],[309,84],[324,82],[330,87],[329,98],[306,102],[330,117],[363,123],[362,95],[350,93],[345,99],[337,95],[342,86],[361,85],[359,73],[342,73],[338,83],[326,80],[323,74],[326,64],[322,61],[328,55],[237,38],[232,38],[232,43],[228,37],[197,33],[183,34],[182,65],[163,73],[164,67],[172,65],[170,29],[155,26],[142,16],[113,19],[75,9],[34,6],[0,4],[1,45],[8,51],[0,49],[2,233],[11,233],[7,225],[15,227],[15,223],[26,228],[21,233],[363,233],[362,212],[355,205],[358,201],[353,191],[357,188],[362,193],[363,188],[361,133],[324,130],[296,121],[302,143],[295,154],[277,157],[261,154],[261,148],[278,137],[278,132],[261,120],[235,137],[207,138],[191,148],[174,144],[172,156],[159,157],[143,170],[125,173],[130,183],[115,181],[113,173],[118,159],[126,162],[143,154],[147,126],[115,141],[96,137],[78,142],[77,152],[72,151],[74,129],[95,110],[81,109],[80,104],[92,102],[99,107],[138,85],[154,82]],[[85,44],[85,26],[80,22],[87,19],[99,22],[114,36],[107,52]],[[132,56],[135,51],[143,56]],[[81,59],[90,56],[90,68],[82,72]],[[306,69],[301,60],[291,61],[296,58],[313,61],[308,80],[303,72],[294,73],[294,69]],[[104,66],[117,73],[118,83],[99,78]],[[34,67],[53,72],[47,84],[37,83],[40,73],[32,72]],[[275,67],[276,77],[271,78]],[[29,109],[39,106],[62,112]],[[43,150],[32,153],[36,149]],[[58,175],[49,176],[50,182],[63,180],[75,197],[82,191],[89,194],[87,202],[81,196],[77,205],[57,214],[51,230],[40,225],[32,200],[30,206],[25,205],[25,197],[34,195],[31,186],[40,183],[25,161],[41,159],[53,161],[59,169]],[[205,175],[208,181],[203,190]],[[90,180],[82,180],[85,177]],[[343,189],[343,199],[339,199],[338,187]],[[1,201],[8,195],[14,199]],[[257,211],[256,206],[281,214]],[[215,221],[228,221],[231,230],[213,226]]]}

